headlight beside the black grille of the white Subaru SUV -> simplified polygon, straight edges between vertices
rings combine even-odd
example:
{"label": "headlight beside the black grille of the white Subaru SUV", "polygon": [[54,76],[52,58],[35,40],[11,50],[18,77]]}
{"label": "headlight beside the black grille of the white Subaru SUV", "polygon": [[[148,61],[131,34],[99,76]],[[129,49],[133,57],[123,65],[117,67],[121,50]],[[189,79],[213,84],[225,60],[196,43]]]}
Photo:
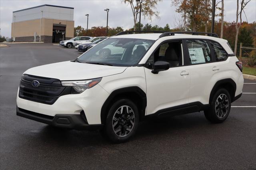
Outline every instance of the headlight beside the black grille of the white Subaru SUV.
{"label": "headlight beside the black grille of the white Subaru SUV", "polygon": [[71,94],[79,94],[94,87],[96,84],[100,83],[102,77],[90,80],[78,80],[78,81],[61,81],[62,86],[71,86]]}

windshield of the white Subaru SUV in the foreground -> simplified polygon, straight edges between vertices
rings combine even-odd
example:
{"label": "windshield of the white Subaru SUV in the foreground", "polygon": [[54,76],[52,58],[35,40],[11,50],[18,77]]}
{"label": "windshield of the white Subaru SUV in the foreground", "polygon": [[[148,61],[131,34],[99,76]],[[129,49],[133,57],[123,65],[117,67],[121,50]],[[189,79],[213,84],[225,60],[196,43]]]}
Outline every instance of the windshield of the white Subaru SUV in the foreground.
{"label": "windshield of the white Subaru SUV in the foreground", "polygon": [[108,38],[86,51],[76,61],[133,66],[139,63],[154,42],[154,40],[132,38]]}

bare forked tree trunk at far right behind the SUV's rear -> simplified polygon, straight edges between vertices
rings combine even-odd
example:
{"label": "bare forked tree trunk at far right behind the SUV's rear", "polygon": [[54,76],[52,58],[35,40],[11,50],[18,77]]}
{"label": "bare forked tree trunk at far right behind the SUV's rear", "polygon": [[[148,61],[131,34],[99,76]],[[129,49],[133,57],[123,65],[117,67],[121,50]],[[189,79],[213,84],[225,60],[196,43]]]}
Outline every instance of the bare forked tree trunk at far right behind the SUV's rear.
{"label": "bare forked tree trunk at far right behind the SUV's rear", "polygon": [[[248,2],[250,2],[250,0],[248,1],[242,0],[240,11],[239,11],[239,0],[236,0],[236,39],[235,39],[235,48],[234,48],[235,55],[237,50],[238,33],[239,33],[240,26],[242,25],[242,12],[244,12],[244,8],[248,4]],[[238,24],[238,16],[240,17],[240,24]]]}

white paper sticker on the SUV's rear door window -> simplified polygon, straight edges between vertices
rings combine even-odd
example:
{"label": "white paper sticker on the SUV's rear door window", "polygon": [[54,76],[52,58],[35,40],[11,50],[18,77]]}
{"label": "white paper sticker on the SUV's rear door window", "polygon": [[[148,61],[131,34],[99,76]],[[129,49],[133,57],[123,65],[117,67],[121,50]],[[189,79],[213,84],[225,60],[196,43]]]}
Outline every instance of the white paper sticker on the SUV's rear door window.
{"label": "white paper sticker on the SUV's rear door window", "polygon": [[192,64],[205,63],[204,52],[202,48],[189,48],[188,51]]}

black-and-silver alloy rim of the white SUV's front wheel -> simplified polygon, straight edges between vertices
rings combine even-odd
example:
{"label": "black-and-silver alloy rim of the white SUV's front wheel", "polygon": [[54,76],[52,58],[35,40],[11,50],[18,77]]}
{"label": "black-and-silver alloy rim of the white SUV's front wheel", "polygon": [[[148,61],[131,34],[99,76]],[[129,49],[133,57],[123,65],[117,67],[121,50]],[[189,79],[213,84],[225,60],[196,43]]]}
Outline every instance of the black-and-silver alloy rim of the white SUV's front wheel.
{"label": "black-and-silver alloy rim of the white SUV's front wheel", "polygon": [[112,128],[119,137],[127,136],[134,127],[135,115],[131,107],[124,105],[119,107],[112,119]]}

